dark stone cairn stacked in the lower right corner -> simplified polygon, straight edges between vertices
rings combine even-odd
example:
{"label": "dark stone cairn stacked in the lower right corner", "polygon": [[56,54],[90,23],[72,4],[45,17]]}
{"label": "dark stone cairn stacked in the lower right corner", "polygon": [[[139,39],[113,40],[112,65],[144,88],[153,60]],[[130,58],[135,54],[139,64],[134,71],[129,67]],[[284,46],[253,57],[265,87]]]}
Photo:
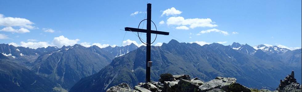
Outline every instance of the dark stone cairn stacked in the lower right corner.
{"label": "dark stone cairn stacked in the lower right corner", "polygon": [[279,92],[301,92],[301,89],[301,85],[295,79],[294,71],[292,71],[291,75],[287,75],[283,81],[280,80],[277,88]]}

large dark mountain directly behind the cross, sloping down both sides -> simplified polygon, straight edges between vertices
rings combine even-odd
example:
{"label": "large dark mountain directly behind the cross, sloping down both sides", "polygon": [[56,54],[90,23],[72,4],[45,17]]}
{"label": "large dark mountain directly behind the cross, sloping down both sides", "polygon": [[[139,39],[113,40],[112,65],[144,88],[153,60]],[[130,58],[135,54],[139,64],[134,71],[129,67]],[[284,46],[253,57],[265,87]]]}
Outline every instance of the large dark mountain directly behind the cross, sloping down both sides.
{"label": "large dark mountain directly behind the cross, sloping down both sides", "polygon": [[[151,61],[153,81],[157,81],[159,74],[162,73],[177,75],[189,72],[188,75],[194,77],[196,75],[205,81],[216,76],[235,77],[239,83],[248,87],[261,88],[263,84],[252,78],[270,86],[277,86],[279,83],[275,80],[283,77],[280,74],[291,71],[288,66],[282,66],[284,63],[264,61],[229,46],[217,43],[200,46],[196,43],[179,43],[176,40],[164,43],[161,47],[152,46]],[[132,51],[113,59],[112,63],[97,74],[82,78],[70,91],[103,92],[121,82],[129,83],[131,86],[145,82],[144,46],[140,47],[137,53]]]}

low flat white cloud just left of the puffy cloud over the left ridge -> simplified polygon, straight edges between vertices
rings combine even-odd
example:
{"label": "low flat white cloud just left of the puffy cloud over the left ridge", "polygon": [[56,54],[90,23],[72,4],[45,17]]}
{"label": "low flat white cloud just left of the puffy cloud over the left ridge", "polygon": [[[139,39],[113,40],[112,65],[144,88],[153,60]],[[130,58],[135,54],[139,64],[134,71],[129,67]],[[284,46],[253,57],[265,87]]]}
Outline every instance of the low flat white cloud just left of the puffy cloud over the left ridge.
{"label": "low flat white cloud just left of the puffy cloud over the left ridge", "polygon": [[23,42],[21,41],[20,42],[20,46],[22,47],[25,47],[25,48],[33,48],[33,49],[36,49],[36,48],[41,48],[41,47],[48,47],[48,46],[51,46],[51,44],[48,44],[47,42]]}

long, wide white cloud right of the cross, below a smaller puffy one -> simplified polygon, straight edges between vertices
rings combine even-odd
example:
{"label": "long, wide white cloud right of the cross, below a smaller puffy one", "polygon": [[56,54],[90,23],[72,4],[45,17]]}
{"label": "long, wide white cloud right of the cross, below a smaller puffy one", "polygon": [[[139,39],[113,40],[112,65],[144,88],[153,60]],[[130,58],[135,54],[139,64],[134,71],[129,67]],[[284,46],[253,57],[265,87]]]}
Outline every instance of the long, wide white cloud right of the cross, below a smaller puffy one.
{"label": "long, wide white cloud right of the cross, below a smaller puffy one", "polygon": [[217,25],[212,24],[210,18],[194,18],[194,19],[185,19],[183,17],[169,17],[167,19],[167,25],[190,25],[191,29],[196,27],[216,27]]}

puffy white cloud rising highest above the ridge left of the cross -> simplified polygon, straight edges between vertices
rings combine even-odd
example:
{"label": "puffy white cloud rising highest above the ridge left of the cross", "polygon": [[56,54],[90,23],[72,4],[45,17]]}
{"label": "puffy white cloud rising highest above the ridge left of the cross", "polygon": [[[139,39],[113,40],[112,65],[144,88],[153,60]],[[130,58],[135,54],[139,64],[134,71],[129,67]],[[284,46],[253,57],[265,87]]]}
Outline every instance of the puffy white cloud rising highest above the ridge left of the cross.
{"label": "puffy white cloud rising highest above the ridge left of the cross", "polygon": [[54,44],[55,46],[61,48],[63,45],[65,46],[73,46],[75,44],[77,44],[77,42],[80,39],[75,39],[75,40],[70,40],[64,36],[59,36],[59,37],[55,37],[54,40],[52,41],[52,44]]}

